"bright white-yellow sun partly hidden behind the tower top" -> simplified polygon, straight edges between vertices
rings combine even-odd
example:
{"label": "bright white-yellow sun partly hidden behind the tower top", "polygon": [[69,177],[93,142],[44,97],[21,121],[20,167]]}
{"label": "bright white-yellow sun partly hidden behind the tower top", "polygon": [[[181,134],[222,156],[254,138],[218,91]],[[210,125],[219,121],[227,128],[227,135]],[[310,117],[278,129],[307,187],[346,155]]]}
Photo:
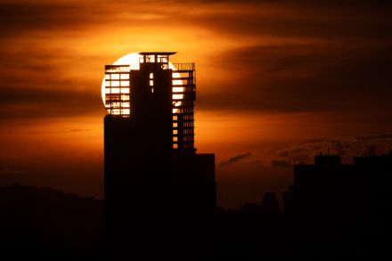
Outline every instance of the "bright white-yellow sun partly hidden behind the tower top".
{"label": "bright white-yellow sun partly hidden behind the tower top", "polygon": [[[142,55],[140,55],[139,53],[128,53],[122,57],[120,57],[117,61],[113,62],[113,65],[130,65],[131,69],[139,69],[139,58],[143,58]],[[176,69],[176,67],[173,65],[173,63],[171,63],[170,61],[168,62],[168,68],[169,69]],[[173,73],[173,77],[181,77],[179,73]],[[177,86],[181,86],[183,85],[183,81],[182,80],[173,80],[173,99],[183,99],[184,98],[184,94],[175,94],[177,92],[184,92],[184,87],[177,87]],[[106,104],[105,104],[105,96],[106,96],[106,92],[105,92],[105,77],[102,78],[102,86],[101,86],[101,95],[102,95],[102,102],[103,105],[106,108]],[[181,102],[174,102],[173,103],[175,105],[175,107],[179,107],[181,105]],[[176,113],[178,109],[173,109],[173,113]]]}

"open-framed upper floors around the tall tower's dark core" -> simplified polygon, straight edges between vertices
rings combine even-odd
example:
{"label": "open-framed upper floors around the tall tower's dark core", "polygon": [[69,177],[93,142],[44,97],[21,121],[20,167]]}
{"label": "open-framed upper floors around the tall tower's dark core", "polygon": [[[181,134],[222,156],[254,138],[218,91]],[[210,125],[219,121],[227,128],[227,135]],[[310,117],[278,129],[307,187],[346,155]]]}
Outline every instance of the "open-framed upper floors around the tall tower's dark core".
{"label": "open-framed upper floors around the tall tower's dark core", "polygon": [[[194,63],[170,63],[174,53],[139,53],[138,66],[105,66],[105,107],[110,117],[130,118],[131,72],[143,63],[159,64],[163,70],[172,70],[172,144],[173,150],[194,152],[194,105],[196,75]],[[149,78],[151,81],[151,77]],[[151,83],[150,85],[151,86]],[[153,89],[152,89],[153,92]]]}

